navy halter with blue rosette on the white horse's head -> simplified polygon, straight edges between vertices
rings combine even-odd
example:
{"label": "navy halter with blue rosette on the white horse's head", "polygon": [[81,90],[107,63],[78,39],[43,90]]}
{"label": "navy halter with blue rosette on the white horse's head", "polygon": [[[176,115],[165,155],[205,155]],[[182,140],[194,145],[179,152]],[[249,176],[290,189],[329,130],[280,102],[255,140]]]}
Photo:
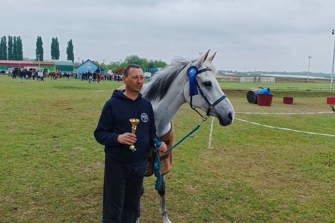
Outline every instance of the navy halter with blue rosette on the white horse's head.
{"label": "navy halter with blue rosette on the white horse's head", "polygon": [[[198,71],[197,67],[192,66],[192,65],[191,65],[191,67],[187,70],[187,74],[188,74],[188,76],[190,77],[190,96],[191,96],[191,99],[190,99],[190,106],[191,106],[191,108],[192,108],[194,111],[196,111],[202,118],[205,118],[205,116],[201,115],[200,112],[198,112],[197,109],[196,109],[195,107],[192,106],[192,96],[193,96],[193,95],[197,95],[198,92],[197,92],[196,89],[195,89],[195,90],[192,89],[192,90],[193,90],[193,93],[191,93],[191,88],[192,88],[192,86],[191,86],[192,83],[191,83],[191,82],[195,82],[195,83],[196,83],[197,89],[199,90],[201,96],[205,99],[205,101],[206,101],[207,104],[208,104],[208,110],[207,110],[207,112],[206,112],[206,116],[207,116],[207,118],[209,117],[209,112],[210,112],[211,110],[213,110],[214,107],[215,107],[218,103],[220,103],[223,99],[225,99],[225,98],[227,97],[226,95],[223,95],[222,97],[220,97],[219,99],[217,99],[213,104],[211,104],[211,103],[208,101],[208,99],[207,99],[206,95],[204,94],[204,92],[201,90],[200,85],[199,85],[199,83],[198,83],[198,81],[197,81],[196,76],[197,76],[198,74],[202,73],[202,72],[205,72],[205,71],[211,71],[211,70],[212,70],[212,69],[210,69],[210,68],[204,68],[204,69],[201,69],[201,70]],[[192,78],[192,81],[191,81],[191,76],[194,76],[194,77]]]}

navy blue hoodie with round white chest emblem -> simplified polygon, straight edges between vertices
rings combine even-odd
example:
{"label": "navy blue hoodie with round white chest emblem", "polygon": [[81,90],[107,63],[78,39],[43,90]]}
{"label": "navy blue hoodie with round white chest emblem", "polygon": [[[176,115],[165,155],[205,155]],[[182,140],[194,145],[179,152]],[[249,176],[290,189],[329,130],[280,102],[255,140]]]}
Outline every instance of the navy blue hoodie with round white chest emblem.
{"label": "navy blue hoodie with round white chest emblem", "polygon": [[[105,145],[105,156],[118,162],[143,165],[147,161],[147,153],[150,146],[153,147],[153,139],[156,135],[155,119],[151,103],[139,96],[132,100],[123,94],[122,90],[115,90],[112,97],[106,102],[98,125],[94,131],[96,141]],[[136,151],[132,152],[129,145],[120,144],[118,136],[130,132],[129,119],[140,119],[136,127]]]}

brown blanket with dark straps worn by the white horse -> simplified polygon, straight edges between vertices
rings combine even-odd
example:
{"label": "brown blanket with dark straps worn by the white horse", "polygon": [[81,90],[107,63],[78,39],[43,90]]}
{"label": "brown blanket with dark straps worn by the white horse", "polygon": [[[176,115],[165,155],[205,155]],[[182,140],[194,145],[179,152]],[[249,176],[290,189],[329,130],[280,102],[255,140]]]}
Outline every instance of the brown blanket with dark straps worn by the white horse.
{"label": "brown blanket with dark straps worn by the white horse", "polygon": [[[118,90],[125,90],[126,87],[125,85],[121,86],[118,88]],[[160,140],[165,142],[167,149],[170,149],[173,146],[173,139],[174,139],[174,129],[173,129],[173,124],[171,122],[171,129],[168,133],[166,133],[164,136],[160,137]],[[149,148],[148,152],[148,170],[145,173],[144,176],[150,177],[153,175],[153,164],[155,162],[155,157],[156,155],[153,152],[153,148]],[[160,158],[160,174],[163,176],[167,173],[172,168],[172,157],[173,157],[173,150],[171,150],[169,153],[164,153],[164,152],[159,152],[159,158]]]}

